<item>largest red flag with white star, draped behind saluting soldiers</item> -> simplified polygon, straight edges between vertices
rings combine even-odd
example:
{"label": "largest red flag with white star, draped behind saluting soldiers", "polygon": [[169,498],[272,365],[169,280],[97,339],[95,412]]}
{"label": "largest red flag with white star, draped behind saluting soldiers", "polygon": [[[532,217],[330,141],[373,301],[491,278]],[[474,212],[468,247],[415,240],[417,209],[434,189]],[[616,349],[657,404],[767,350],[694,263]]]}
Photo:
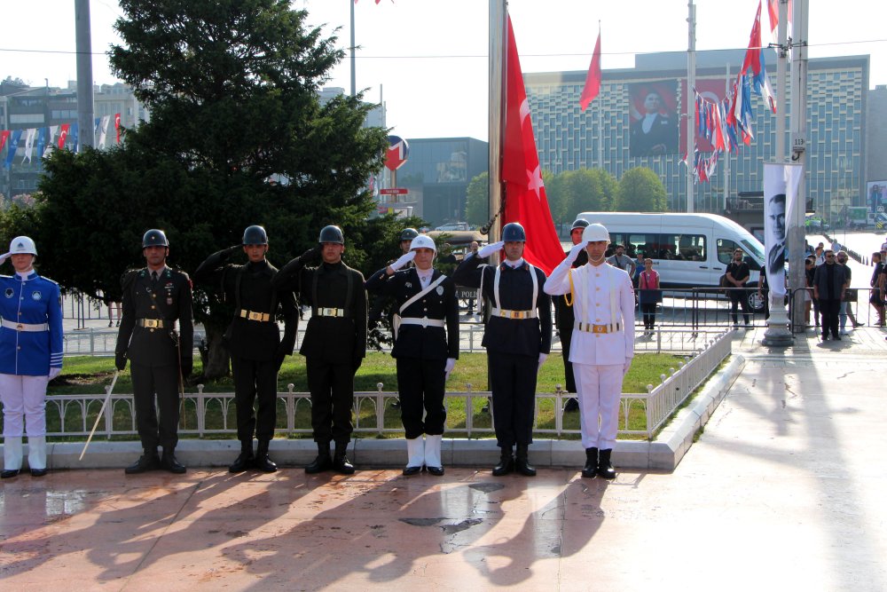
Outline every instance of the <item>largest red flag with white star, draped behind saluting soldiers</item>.
{"label": "largest red flag with white star, draped behind saluting soldiers", "polygon": [[527,91],[523,86],[521,61],[517,57],[511,17],[507,19],[506,109],[502,125],[505,130],[502,142],[502,181],[505,183],[503,224],[520,222],[523,225],[527,231],[523,257],[547,275],[563,261],[563,249],[554,230],[551,209],[548,208]]}

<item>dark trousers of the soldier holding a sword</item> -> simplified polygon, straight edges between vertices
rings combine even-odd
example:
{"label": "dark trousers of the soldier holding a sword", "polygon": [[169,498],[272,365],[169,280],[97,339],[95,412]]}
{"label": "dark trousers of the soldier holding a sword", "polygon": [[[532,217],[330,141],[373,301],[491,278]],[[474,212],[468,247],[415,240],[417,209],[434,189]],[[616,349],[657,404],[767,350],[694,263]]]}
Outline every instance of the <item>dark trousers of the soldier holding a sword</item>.
{"label": "dark trousers of the soldier holding a sword", "polygon": [[178,367],[142,366],[132,360],[130,375],[142,448],[154,450],[160,445],[166,450],[174,449],[178,444]]}

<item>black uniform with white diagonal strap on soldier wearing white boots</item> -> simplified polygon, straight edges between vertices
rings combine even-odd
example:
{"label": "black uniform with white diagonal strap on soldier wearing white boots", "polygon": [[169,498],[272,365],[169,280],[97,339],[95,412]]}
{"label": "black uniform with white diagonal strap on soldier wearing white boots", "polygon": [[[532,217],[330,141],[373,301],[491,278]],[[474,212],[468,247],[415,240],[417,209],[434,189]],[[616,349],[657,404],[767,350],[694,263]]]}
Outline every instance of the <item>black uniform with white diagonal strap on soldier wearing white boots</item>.
{"label": "black uniform with white diagonal strap on soldier wearing white boots", "polygon": [[[366,281],[366,289],[381,296],[393,296],[395,311],[402,319],[391,356],[397,360],[397,390],[406,438],[421,438],[423,434],[440,436],[446,422],[444,367],[448,358],[459,359],[459,303],[455,284],[443,276],[427,294],[401,310],[424,289],[419,272],[413,267],[389,276],[386,270],[373,273]],[[434,286],[441,277],[441,272],[433,270],[428,285]]]}

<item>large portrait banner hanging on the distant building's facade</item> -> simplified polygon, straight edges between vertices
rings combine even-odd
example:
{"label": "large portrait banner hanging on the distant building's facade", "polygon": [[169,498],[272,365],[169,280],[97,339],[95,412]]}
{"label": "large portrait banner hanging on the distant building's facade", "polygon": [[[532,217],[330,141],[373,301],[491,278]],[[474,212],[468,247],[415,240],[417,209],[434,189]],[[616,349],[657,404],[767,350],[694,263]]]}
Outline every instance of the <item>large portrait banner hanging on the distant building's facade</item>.
{"label": "large portrait banner hanging on the distant building's facade", "polygon": [[678,81],[628,85],[631,156],[678,154]]}

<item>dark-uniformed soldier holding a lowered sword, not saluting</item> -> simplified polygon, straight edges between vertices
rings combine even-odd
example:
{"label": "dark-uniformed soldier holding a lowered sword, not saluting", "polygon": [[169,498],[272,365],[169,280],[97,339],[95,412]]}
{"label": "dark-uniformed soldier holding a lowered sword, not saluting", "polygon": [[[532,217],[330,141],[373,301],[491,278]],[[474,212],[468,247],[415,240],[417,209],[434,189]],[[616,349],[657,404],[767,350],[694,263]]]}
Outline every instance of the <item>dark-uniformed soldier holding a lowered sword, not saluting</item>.
{"label": "dark-uniformed soldier holding a lowered sword, not saluting", "polygon": [[[166,264],[169,241],[162,230],[145,233],[142,254],[147,266],[123,276],[123,317],[114,360],[122,371],[130,359],[136,424],[144,450],[125,472],[165,469],[184,473],[184,466],[176,460],[176,445],[180,385],[183,376],[191,374],[194,361],[191,279]],[[160,458],[158,445],[163,447]]]}

